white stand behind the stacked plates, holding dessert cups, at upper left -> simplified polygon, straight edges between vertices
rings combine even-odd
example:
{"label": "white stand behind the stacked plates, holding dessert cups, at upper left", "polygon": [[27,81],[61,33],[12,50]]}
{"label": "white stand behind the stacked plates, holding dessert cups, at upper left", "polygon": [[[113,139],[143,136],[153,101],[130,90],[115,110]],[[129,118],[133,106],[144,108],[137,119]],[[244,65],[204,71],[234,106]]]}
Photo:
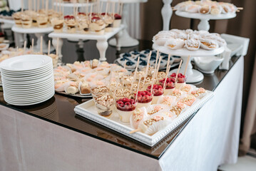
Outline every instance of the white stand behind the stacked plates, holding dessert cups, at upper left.
{"label": "white stand behind the stacked plates, holding dessert cups, at upper left", "polygon": [[[35,46],[35,51],[40,51],[40,38],[46,33],[51,33],[53,31],[53,27],[46,27],[46,28],[39,28],[39,27],[31,27],[31,28],[21,28],[17,26],[12,26],[11,30],[14,31],[15,33],[34,33],[37,41],[36,41],[36,46]],[[48,46],[46,44],[46,41],[43,41],[43,53],[48,52]],[[53,51],[53,47],[51,46],[51,51]]]}

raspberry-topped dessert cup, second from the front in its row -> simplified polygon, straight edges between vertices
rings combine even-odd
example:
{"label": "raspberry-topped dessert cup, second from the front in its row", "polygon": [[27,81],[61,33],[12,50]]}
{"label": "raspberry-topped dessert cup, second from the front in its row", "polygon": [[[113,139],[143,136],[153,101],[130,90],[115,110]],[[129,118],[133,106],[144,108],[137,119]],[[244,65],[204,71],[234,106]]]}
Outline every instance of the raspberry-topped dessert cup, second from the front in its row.
{"label": "raspberry-topped dessert cup, second from the front in its row", "polygon": [[145,90],[138,91],[137,99],[138,99],[137,108],[142,108],[142,107],[147,108],[152,103],[153,95],[152,93]]}

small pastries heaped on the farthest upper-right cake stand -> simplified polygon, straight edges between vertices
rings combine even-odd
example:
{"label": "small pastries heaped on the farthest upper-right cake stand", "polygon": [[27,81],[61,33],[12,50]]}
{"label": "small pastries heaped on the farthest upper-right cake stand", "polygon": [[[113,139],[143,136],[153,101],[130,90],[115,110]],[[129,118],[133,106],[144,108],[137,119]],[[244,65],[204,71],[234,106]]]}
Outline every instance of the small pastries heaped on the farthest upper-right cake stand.
{"label": "small pastries heaped on the farthest upper-right cake stand", "polygon": [[217,1],[183,1],[174,6],[177,11],[186,11],[188,13],[198,13],[198,14],[212,14],[217,16],[219,14],[235,14],[237,8],[234,4],[227,2],[217,2]]}

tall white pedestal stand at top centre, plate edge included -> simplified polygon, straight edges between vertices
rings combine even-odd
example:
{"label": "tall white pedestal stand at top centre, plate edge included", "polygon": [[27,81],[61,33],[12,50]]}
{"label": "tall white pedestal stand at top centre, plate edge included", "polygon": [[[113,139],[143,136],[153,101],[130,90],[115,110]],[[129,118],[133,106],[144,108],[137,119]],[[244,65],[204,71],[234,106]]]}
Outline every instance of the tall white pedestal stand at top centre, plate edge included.
{"label": "tall white pedestal stand at top centre, plate edge included", "polygon": [[[114,1],[114,2],[122,2],[123,3],[122,24],[123,24],[123,26],[125,26],[125,29],[123,29],[123,31],[121,33],[120,44],[121,44],[121,47],[137,46],[138,40],[136,40],[135,38],[131,38],[127,31],[128,25],[126,23],[126,20],[127,20],[127,16],[129,15],[128,14],[128,4],[145,3],[148,0],[101,0],[101,1]],[[116,39],[112,38],[108,43],[111,46],[116,46]]]}

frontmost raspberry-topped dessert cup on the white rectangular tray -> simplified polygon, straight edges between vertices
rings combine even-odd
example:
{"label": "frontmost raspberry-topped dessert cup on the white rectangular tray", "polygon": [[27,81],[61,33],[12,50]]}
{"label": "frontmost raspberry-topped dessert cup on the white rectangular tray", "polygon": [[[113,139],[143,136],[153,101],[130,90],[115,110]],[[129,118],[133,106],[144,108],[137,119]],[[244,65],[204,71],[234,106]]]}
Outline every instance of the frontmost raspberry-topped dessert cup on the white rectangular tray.
{"label": "frontmost raspberry-topped dessert cup on the white rectangular tray", "polygon": [[117,98],[116,110],[123,123],[130,122],[130,115],[133,114],[137,106],[137,102],[131,98]]}

